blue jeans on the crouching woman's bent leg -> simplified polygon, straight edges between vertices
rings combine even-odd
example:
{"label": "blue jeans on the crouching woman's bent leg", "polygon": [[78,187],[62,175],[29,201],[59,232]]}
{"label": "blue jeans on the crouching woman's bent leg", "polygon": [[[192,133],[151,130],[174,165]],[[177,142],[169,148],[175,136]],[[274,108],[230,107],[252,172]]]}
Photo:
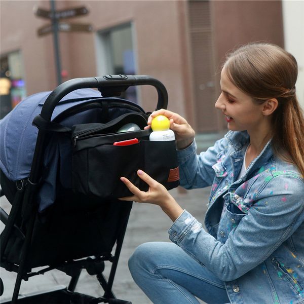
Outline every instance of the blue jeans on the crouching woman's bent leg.
{"label": "blue jeans on the crouching woman's bent leg", "polygon": [[229,303],[224,282],[173,243],[138,246],[129,259],[135,283],[154,304]]}

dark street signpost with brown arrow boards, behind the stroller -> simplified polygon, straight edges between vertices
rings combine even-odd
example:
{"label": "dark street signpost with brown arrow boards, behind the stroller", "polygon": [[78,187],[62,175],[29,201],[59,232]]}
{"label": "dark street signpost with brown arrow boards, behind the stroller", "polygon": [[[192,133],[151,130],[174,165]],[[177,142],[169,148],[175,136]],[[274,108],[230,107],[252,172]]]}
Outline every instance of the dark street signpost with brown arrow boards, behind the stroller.
{"label": "dark street signpost with brown arrow boards, behind the stroller", "polygon": [[88,9],[84,6],[71,8],[66,10],[58,10],[55,9],[55,0],[50,1],[51,10],[46,10],[42,8],[34,8],[34,14],[37,17],[42,17],[45,19],[51,20],[52,23],[46,24],[37,29],[38,36],[44,36],[49,33],[53,33],[54,35],[54,50],[55,50],[55,60],[57,67],[57,82],[58,85],[61,84],[61,63],[60,63],[60,51],[59,51],[59,40],[58,40],[58,31],[61,32],[91,32],[93,31],[93,27],[91,24],[83,24],[83,23],[69,23],[69,22],[61,22],[59,20],[68,19],[73,17],[79,17],[83,15],[87,15],[89,13]]}

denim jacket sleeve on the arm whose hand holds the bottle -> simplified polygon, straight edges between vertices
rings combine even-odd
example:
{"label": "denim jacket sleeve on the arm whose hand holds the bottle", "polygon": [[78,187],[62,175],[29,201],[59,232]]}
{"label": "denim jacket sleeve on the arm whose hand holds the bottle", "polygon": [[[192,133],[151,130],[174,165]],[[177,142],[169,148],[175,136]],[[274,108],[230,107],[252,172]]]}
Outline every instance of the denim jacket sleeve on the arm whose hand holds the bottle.
{"label": "denim jacket sleeve on the arm whose hand holds the bottle", "polygon": [[215,176],[212,166],[216,163],[218,154],[227,149],[227,146],[227,139],[222,138],[200,155],[196,154],[196,141],[187,148],[178,150],[180,185],[186,189],[212,185]]}

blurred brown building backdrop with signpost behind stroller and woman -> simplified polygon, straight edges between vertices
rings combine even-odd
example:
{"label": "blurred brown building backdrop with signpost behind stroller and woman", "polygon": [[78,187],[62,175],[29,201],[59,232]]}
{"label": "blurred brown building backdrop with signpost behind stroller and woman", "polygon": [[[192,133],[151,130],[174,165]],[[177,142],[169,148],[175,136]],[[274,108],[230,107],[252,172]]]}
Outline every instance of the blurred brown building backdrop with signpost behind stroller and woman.
{"label": "blurred brown building backdrop with signpost behind stroller and woman", "polygon": [[[217,133],[226,127],[214,108],[221,62],[255,41],[296,57],[304,106],[304,1],[1,0],[0,14],[1,118],[72,78],[148,74],[166,86],[169,109],[198,133]],[[147,111],[156,105],[152,87],[124,97]]]}

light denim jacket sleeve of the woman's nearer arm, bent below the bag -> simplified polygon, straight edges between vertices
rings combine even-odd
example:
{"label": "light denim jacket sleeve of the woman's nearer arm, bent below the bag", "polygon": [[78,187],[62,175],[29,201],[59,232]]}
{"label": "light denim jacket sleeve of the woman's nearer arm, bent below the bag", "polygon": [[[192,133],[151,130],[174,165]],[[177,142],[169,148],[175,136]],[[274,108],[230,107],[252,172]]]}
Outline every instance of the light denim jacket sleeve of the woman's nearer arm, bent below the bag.
{"label": "light denim jacket sleeve of the woman's nearer arm, bent below the bag", "polygon": [[224,244],[187,211],[169,229],[170,240],[219,279],[235,280],[267,259],[303,222],[303,192],[302,179],[275,176],[265,181],[255,204]]}

